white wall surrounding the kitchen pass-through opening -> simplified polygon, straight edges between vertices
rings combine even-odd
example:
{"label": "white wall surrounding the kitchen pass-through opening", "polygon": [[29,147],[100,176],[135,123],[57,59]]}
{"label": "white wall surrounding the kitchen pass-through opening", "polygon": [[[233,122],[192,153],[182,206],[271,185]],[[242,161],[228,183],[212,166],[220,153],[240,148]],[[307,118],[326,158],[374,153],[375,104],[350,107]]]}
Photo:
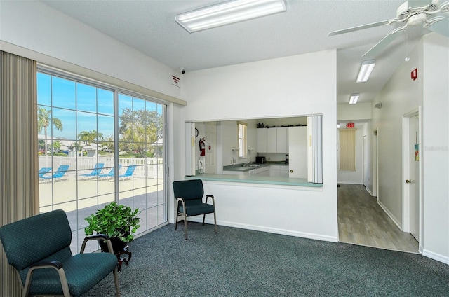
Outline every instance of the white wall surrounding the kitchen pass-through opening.
{"label": "white wall surrounding the kitchen pass-through opening", "polygon": [[[298,188],[276,188],[267,191],[256,186],[240,186],[238,193],[226,184],[206,182],[210,192],[215,192],[217,220],[220,207],[231,207],[227,202],[236,199],[243,204],[254,199],[283,201],[297,215],[284,217],[276,223],[274,232],[337,240],[337,173],[335,158],[336,123],[336,51],[295,55],[273,60],[237,64],[201,71],[189,71],[185,75],[181,99],[189,104],[177,109],[177,125],[185,121],[242,120],[247,118],[274,118],[288,116],[323,115],[323,188],[319,191]],[[321,79],[317,80],[316,78]],[[323,84],[322,81],[326,81]],[[180,139],[184,139],[179,134]],[[185,153],[181,146],[175,179],[182,179]],[[328,153],[333,152],[333,153]],[[182,159],[182,160],[181,160]],[[248,199],[246,201],[245,199]],[[221,203],[225,205],[220,206]],[[237,209],[241,216],[244,209],[234,204],[223,214]],[[258,214],[260,216],[260,214]],[[234,218],[235,220],[236,218]],[[250,221],[260,221],[254,213],[242,218],[241,228],[254,228]],[[264,229],[270,231],[268,229]]]}

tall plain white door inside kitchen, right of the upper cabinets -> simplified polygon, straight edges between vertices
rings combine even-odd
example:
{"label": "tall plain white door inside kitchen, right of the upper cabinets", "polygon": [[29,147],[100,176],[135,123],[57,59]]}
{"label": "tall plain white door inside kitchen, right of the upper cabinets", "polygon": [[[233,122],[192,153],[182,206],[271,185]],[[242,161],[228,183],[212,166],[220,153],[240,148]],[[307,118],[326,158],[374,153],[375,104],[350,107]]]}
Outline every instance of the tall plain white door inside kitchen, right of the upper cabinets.
{"label": "tall plain white door inside kitchen, right of the upper cabinets", "polygon": [[307,127],[288,127],[288,177],[307,179]]}

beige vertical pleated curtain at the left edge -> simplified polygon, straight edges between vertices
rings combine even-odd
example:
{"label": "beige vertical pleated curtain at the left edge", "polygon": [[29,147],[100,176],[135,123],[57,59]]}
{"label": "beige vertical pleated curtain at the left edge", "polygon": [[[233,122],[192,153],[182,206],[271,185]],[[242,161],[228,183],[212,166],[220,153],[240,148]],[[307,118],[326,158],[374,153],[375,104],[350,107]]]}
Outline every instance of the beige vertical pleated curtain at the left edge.
{"label": "beige vertical pleated curtain at the left edge", "polygon": [[[36,61],[0,51],[0,226],[39,212]],[[20,296],[0,254],[0,296]]]}

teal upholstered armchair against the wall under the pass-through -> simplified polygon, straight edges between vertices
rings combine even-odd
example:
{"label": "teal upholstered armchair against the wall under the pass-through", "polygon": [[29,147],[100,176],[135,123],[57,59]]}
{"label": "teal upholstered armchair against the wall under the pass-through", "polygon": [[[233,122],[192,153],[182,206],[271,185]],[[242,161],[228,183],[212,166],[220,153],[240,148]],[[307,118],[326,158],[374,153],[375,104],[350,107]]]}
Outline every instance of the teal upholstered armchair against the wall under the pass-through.
{"label": "teal upholstered armchair against the wall under the pass-through", "polygon": [[[201,179],[190,179],[187,181],[173,181],[173,192],[177,202],[175,230],[177,230],[178,218],[184,219],[184,233],[187,240],[187,218],[203,214],[203,225],[206,214],[213,213],[215,233],[217,233],[217,217],[215,216],[215,201],[213,195],[206,195],[203,202],[203,181]],[[212,198],[212,205],[208,204],[208,198]]]}

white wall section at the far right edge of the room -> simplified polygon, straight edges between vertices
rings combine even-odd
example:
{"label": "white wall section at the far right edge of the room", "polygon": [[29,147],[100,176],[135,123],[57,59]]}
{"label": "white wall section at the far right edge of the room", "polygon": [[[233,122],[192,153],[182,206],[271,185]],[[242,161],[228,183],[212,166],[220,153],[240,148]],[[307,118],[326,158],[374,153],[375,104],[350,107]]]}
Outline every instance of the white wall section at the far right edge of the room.
{"label": "white wall section at the far right edge of the room", "polygon": [[449,264],[449,38],[425,35],[423,52],[423,254]]}

